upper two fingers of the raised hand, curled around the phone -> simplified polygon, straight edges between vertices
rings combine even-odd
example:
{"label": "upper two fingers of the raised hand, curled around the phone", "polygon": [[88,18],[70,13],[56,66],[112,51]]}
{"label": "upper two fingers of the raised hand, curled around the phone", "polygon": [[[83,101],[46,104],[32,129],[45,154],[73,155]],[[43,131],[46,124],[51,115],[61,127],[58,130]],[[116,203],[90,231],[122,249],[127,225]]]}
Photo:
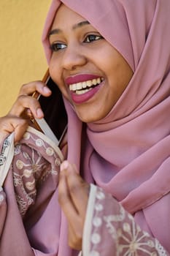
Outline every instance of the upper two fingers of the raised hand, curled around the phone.
{"label": "upper two fingers of the raised hand, curled around the phone", "polygon": [[[42,118],[44,116],[38,99],[32,97],[32,94],[37,91],[38,94],[42,94],[45,97],[50,96],[51,91],[41,81],[35,81],[23,85],[20,89],[18,99],[9,111],[12,116],[34,116],[35,118]],[[28,110],[28,114],[27,111]]]}

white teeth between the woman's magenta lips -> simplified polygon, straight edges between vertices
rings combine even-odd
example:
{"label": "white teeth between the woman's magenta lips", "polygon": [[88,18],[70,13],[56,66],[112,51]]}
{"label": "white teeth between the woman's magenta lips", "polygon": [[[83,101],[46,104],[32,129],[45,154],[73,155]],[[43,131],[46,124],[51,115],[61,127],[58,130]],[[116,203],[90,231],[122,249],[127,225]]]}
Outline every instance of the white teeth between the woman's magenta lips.
{"label": "white teeth between the woman's magenta lips", "polygon": [[[88,80],[88,81],[84,81],[84,82],[80,82],[80,83],[72,83],[69,85],[69,89],[70,91],[76,91],[77,90],[82,90],[88,87],[88,89],[91,86],[96,86],[96,84],[101,83],[101,81],[103,81],[104,78],[97,78],[97,79],[93,79],[93,80]],[[85,93],[86,90],[82,90],[82,93]],[[81,92],[77,93],[77,94],[82,94]]]}

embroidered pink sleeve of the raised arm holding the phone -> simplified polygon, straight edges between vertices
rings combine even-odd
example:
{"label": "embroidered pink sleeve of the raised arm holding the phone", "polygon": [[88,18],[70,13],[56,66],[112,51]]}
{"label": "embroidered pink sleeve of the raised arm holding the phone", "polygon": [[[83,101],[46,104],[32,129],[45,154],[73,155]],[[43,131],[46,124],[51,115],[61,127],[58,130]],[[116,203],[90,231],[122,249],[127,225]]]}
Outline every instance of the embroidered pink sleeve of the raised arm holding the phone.
{"label": "embroidered pink sleeve of the raised arm holding the phone", "polygon": [[15,148],[11,145],[0,142],[0,255],[56,256],[60,212],[55,202],[63,155],[31,127]]}

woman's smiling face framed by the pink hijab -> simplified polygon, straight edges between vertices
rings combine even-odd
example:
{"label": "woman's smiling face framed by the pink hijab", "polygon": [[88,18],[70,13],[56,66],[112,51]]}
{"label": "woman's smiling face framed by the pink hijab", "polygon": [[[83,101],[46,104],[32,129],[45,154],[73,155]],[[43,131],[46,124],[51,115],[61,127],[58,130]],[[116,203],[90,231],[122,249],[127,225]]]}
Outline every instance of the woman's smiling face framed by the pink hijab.
{"label": "woman's smiling face framed by the pink hijab", "polygon": [[50,31],[50,75],[85,122],[107,116],[133,75],[85,18],[61,5]]}

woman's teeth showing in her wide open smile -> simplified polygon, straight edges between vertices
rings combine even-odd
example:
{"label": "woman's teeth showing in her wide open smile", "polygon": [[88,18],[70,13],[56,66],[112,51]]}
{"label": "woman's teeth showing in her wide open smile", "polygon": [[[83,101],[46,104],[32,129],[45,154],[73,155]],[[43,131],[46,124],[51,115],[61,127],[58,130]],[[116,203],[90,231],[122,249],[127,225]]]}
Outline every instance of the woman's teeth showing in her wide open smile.
{"label": "woman's teeth showing in her wide open smile", "polygon": [[74,94],[85,94],[86,92],[98,86],[103,80],[104,78],[95,78],[79,83],[72,83],[69,85],[69,89],[70,91],[74,92]]}

